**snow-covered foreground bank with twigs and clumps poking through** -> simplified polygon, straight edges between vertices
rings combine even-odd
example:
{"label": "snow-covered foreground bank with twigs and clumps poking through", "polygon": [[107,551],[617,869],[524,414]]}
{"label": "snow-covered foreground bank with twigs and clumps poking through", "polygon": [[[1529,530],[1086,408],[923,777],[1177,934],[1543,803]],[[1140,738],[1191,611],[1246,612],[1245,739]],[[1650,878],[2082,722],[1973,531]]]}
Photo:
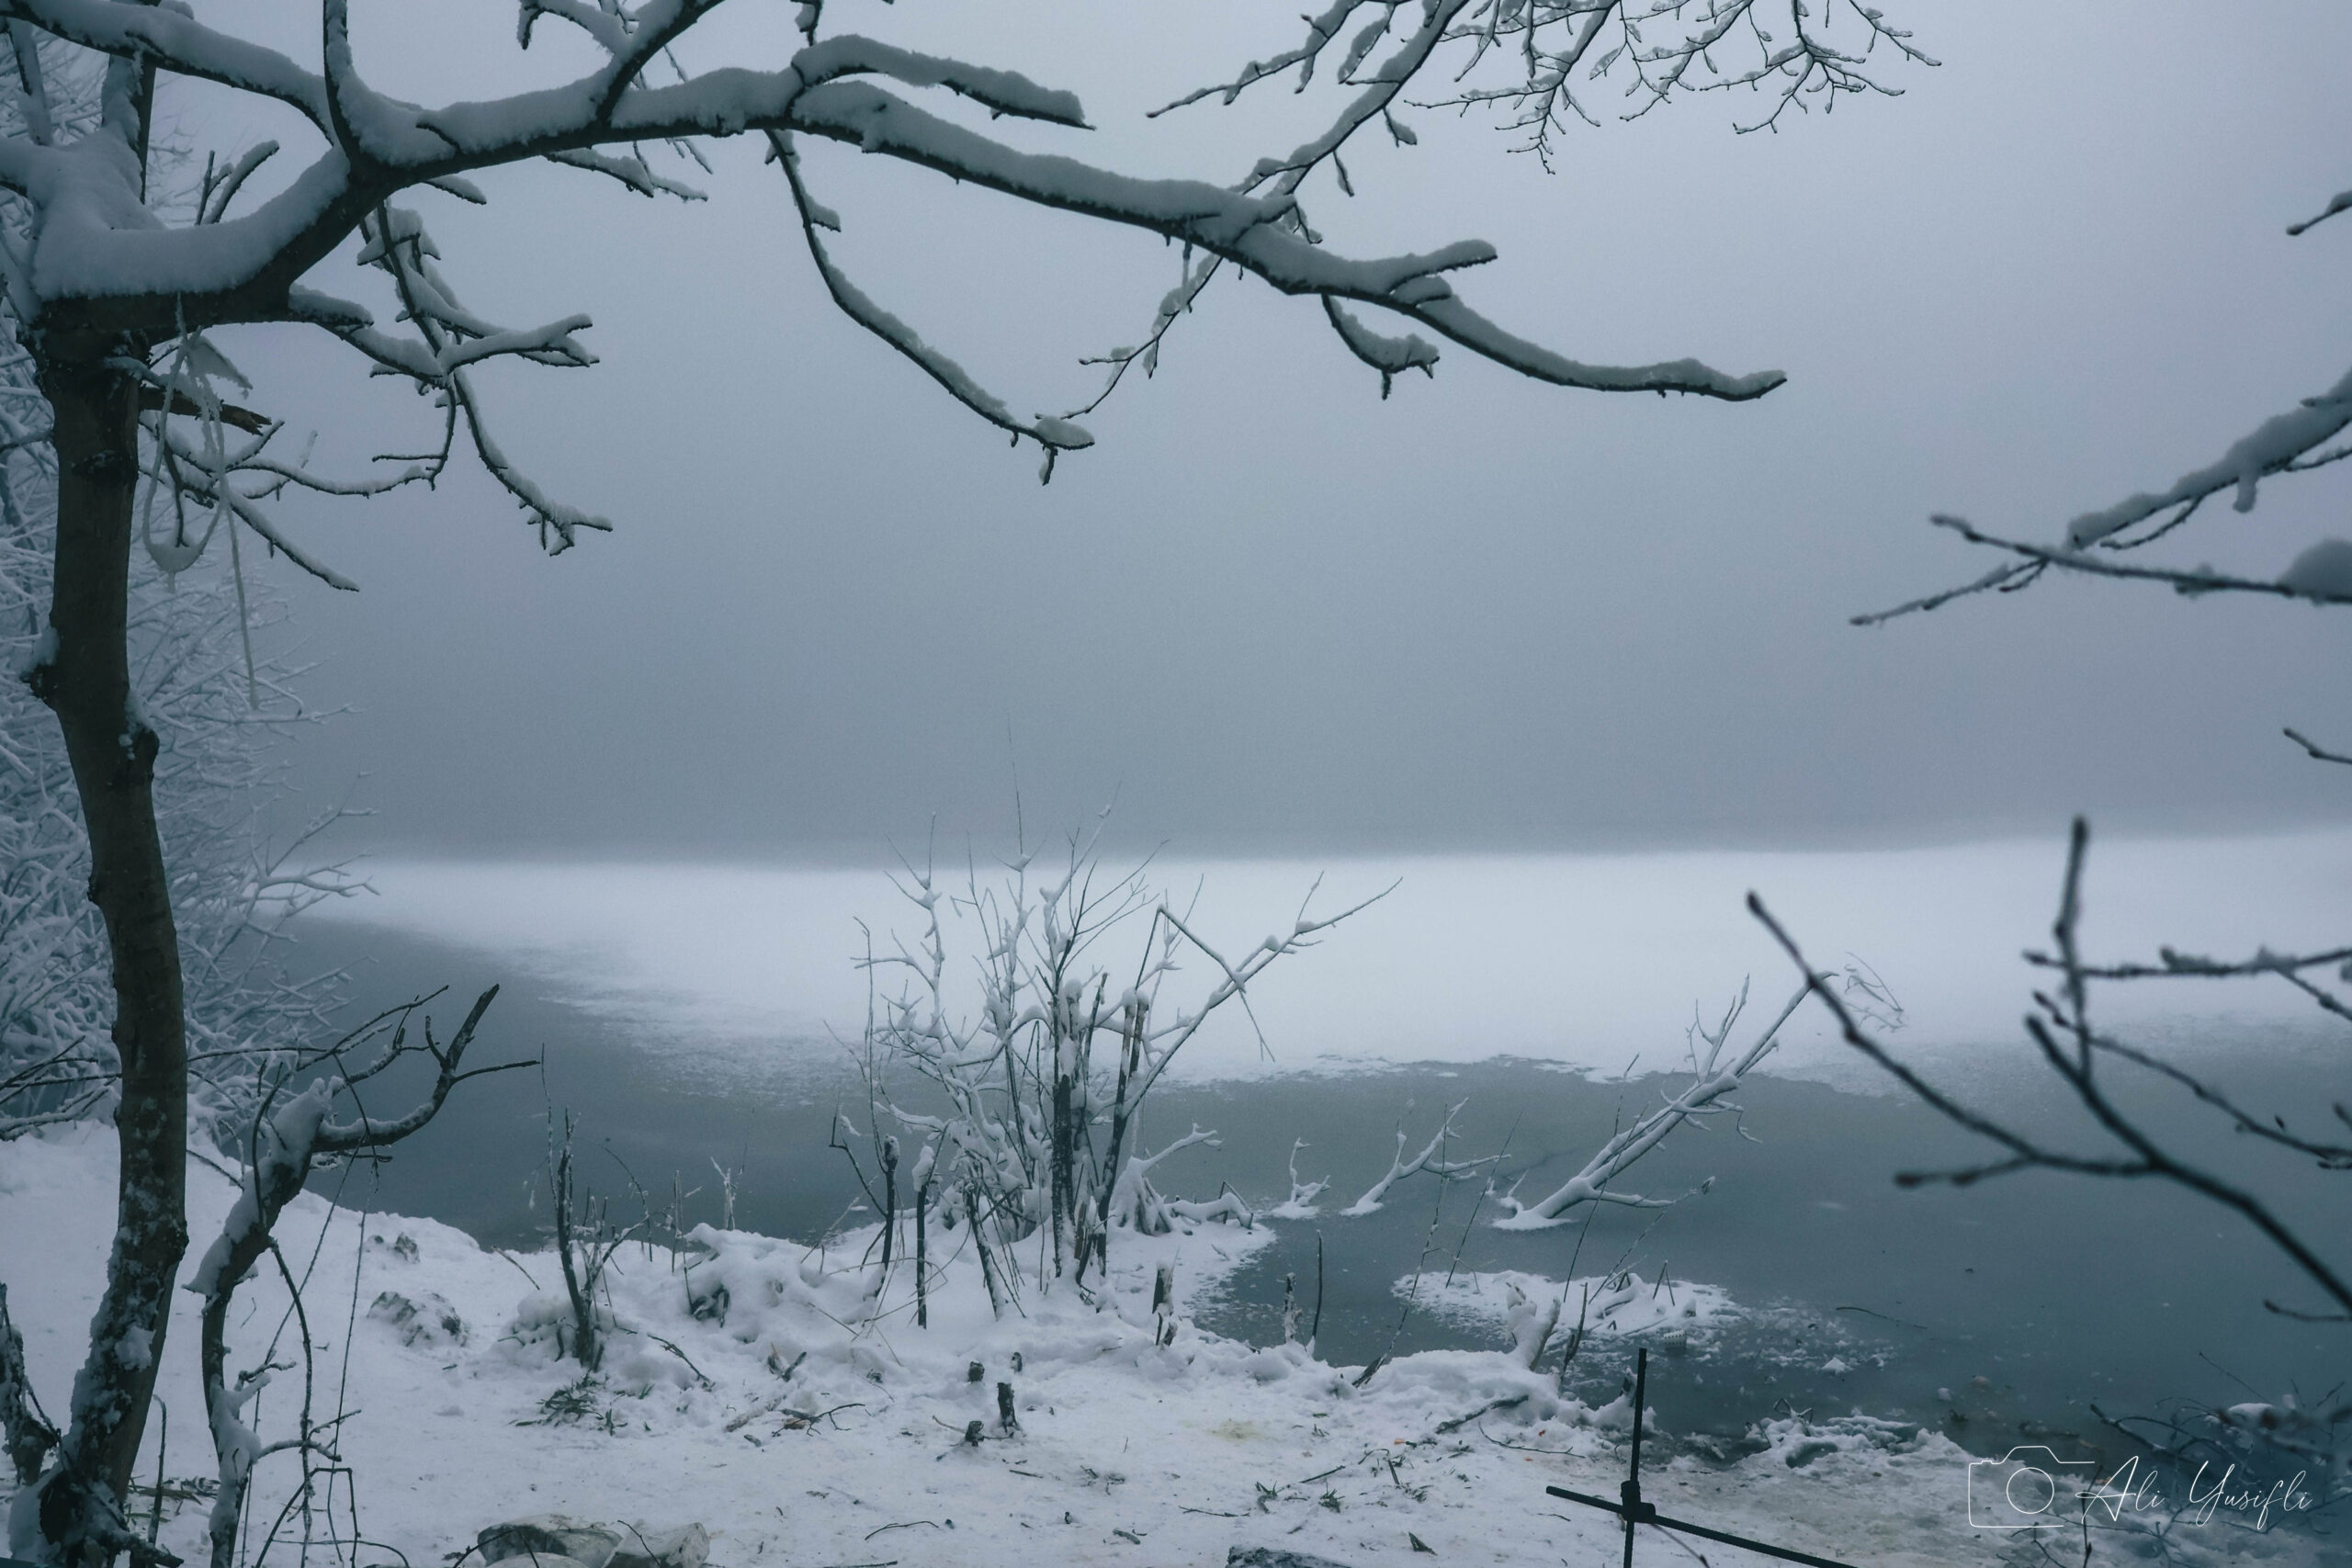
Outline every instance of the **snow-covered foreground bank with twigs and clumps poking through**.
{"label": "snow-covered foreground bank with twigs and clumps poking through", "polygon": [[[49,1410],[66,1403],[99,1291],[113,1164],[113,1135],[96,1126],[0,1145],[0,1279]],[[230,1199],[223,1175],[191,1168],[191,1255]],[[445,1225],[329,1211],[308,1194],[280,1225],[289,1265],[308,1272],[313,1413],[348,1413],[341,1455],[358,1488],[348,1500],[336,1488],[334,1528],[350,1535],[355,1509],[376,1542],[360,1563],[445,1561],[489,1523],[550,1512],[649,1530],[696,1521],[724,1568],[1214,1566],[1235,1544],[1411,1563],[1416,1540],[1439,1563],[1613,1561],[1613,1521],[1543,1488],[1613,1495],[1625,1399],[1559,1399],[1548,1375],[1503,1354],[1501,1326],[1494,1352],[1404,1356],[1362,1389],[1359,1368],[1303,1347],[1195,1328],[1190,1307],[1265,1234],[1120,1232],[1101,1305],[1028,1279],[995,1319],[960,1234],[934,1232],[946,1267],[917,1328],[903,1267],[870,1309],[861,1237],[811,1248],[703,1229],[699,1255],[616,1258],[619,1331],[602,1378],[581,1382],[553,1354],[553,1255],[489,1253]],[[1162,1265],[1176,1279],[1171,1340],[1150,1309]],[[1508,1281],[1465,1281],[1463,1305],[1496,1284]],[[1703,1288],[1682,1300],[1691,1324],[1733,1309]],[[285,1302],[261,1276],[230,1316],[235,1366],[289,1363],[261,1396],[263,1436],[282,1436],[303,1399]],[[162,1540],[183,1556],[200,1556],[202,1502],[179,1500],[191,1488],[176,1483],[209,1472],[193,1309],[183,1295],[160,1389],[174,1479]],[[1651,1302],[1621,1316],[1665,1326]],[[1016,1392],[1018,1432],[997,1427],[1000,1380]],[[983,1422],[978,1446],[964,1443],[969,1422]],[[1851,1563],[1992,1563],[2018,1544],[1969,1528],[1969,1460],[1936,1434],[1811,1413],[1766,1422],[1745,1448],[1736,1462],[1703,1460],[1665,1434],[1644,1465],[1649,1497]],[[285,1497],[289,1467],[263,1460],[256,1519]],[[153,1472],[151,1427],[141,1474]],[[2246,1554],[2319,1561],[2307,1540],[2227,1519],[2173,1535],[2173,1561]],[[294,1561],[287,1547],[278,1556]],[[1665,1540],[1642,1547],[1642,1561],[1679,1556]]]}

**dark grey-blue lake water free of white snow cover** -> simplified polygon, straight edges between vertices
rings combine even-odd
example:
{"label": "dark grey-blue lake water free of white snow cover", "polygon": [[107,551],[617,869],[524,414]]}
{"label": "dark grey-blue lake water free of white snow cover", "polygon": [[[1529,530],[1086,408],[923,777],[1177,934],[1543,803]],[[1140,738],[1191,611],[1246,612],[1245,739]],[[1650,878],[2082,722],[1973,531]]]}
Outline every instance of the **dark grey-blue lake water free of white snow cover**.
{"label": "dark grey-blue lake water free of white snow cover", "polygon": [[[680,1072],[675,1056],[642,1048],[630,1027],[501,976],[482,954],[348,924],[315,926],[306,943],[313,959],[353,966],[360,1006],[447,983],[452,997],[435,1004],[442,1027],[482,985],[508,980],[475,1058],[546,1056],[543,1067],[466,1084],[395,1161],[348,1178],[346,1201],[433,1215],[501,1246],[536,1246],[543,1197],[532,1194],[550,1105],[579,1119],[581,1171],[600,1192],[623,1192],[623,1166],[661,1197],[675,1175],[701,1187],[689,1218],[715,1220],[717,1157],[743,1168],[736,1222],[750,1229],[816,1234],[856,1199],[847,1161],[826,1147],[837,1100],[863,1105],[847,1058],[779,1072],[760,1088],[717,1091],[706,1074]],[[2227,1081],[2263,1112],[2310,1119],[2343,1098],[2352,1077],[2352,1056],[2314,1053],[2310,1037],[2241,1032],[2232,1044]],[[2187,1046],[2206,1058],[2218,1051]],[[2352,1053],[2352,1044],[2340,1051]],[[1319,1349],[1336,1363],[1362,1363],[1381,1352],[1501,1340],[1498,1326],[1428,1309],[1404,1314],[1399,1328],[1395,1284],[1416,1265],[1432,1279],[1456,1258],[1461,1269],[1564,1279],[1578,1246],[1576,1227],[1496,1232],[1484,1222],[1496,1206],[1479,1182],[1439,1190],[1425,1175],[1399,1182],[1376,1215],[1338,1218],[1388,1168],[1399,1117],[1418,1145],[1444,1105],[1468,1100],[1458,1150],[1505,1150],[1503,1182],[1519,1180],[1536,1197],[1564,1180],[1616,1117],[1653,1105],[1661,1084],[1604,1084],[1524,1060],[1176,1084],[1155,1095],[1148,1138],[1195,1121],[1218,1128],[1223,1147],[1171,1159],[1164,1187],[1207,1197],[1223,1180],[1268,1204],[1287,1192],[1291,1140],[1308,1140],[1301,1173],[1334,1182],[1322,1215],[1272,1222],[1277,1241],[1242,1267],[1207,1321],[1277,1340],[1284,1276],[1312,1307],[1319,1237]],[[2016,1079],[1978,1093],[2027,1124],[2065,1126]],[[2145,1415],[2171,1399],[2274,1399],[2296,1380],[2310,1399],[2352,1371],[2352,1331],[2263,1309],[2265,1298],[2317,1302],[2244,1220],[2213,1204],[2159,1182],[2049,1173],[1898,1190],[1896,1171],[1966,1166],[1983,1159],[1983,1145],[1896,1095],[1762,1077],[1740,1100],[1748,1135],[1729,1121],[1677,1133],[1630,1182],[1668,1197],[1712,1175],[1708,1194],[1663,1213],[1604,1208],[1581,1241],[1576,1274],[1623,1262],[1644,1288],[1665,1272],[1668,1288],[1705,1281],[1752,1309],[1653,1363],[1651,1396],[1668,1429],[1738,1432],[1776,1408],[1858,1408],[1936,1425],[1980,1453],[1999,1453],[2020,1432],[2082,1434],[2112,1450],[2093,1403],[2107,1415]],[[2154,1128],[2192,1133],[2183,1147],[2209,1152],[2223,1175],[2258,1175],[2281,1213],[2343,1255],[2352,1237],[2343,1182],[2352,1178],[2218,1138],[2211,1114],[2178,1095],[2145,1105]],[[2079,1133],[2074,1145],[2096,1147]],[[1595,1396],[1613,1392],[1630,1349],[1632,1340],[1590,1340],[1576,1380]]]}

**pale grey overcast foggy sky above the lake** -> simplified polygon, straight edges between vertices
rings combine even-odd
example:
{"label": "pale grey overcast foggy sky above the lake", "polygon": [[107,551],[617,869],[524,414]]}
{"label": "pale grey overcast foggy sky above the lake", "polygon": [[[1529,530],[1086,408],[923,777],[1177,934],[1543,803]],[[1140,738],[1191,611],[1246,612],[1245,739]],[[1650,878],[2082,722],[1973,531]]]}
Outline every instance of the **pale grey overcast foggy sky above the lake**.
{"label": "pale grey overcast foggy sky above the lake", "polygon": [[[689,63],[781,61],[757,28],[788,7],[755,9]],[[299,778],[365,776],[383,846],[579,856],[870,853],[934,813],[997,830],[1016,780],[1033,823],[1117,792],[1131,837],[1195,853],[2352,816],[2352,778],[2279,738],[2352,745],[2347,611],[2046,583],[1846,625],[1990,564],[1931,510],[2051,538],[2343,374],[2352,219],[2284,228],[2352,186],[2352,9],[1886,9],[1943,61],[1889,66],[1900,99],[1755,136],[1750,103],[1686,101],[1564,136],[1557,174],[1421,113],[1418,148],[1352,160],[1352,202],[1308,186],[1341,249],[1496,242],[1463,292],[1562,353],[1790,374],[1740,407],[1465,350],[1383,402],[1312,303],[1228,275],[1040,487],[1033,449],[833,310],[748,141],[694,207],[567,169],[485,179],[485,212],[428,193],[468,303],[595,317],[595,369],[482,383],[510,456],[616,531],[546,559],[470,470],[289,503],[362,583],[285,578],[308,691],[350,708]],[[515,54],[506,7],[358,12],[405,96],[564,73]],[[1080,89],[1101,129],[1030,143],[1124,169],[1230,181],[1331,110],[1277,87],[1143,120],[1282,47],[1284,7],[924,0],[873,26]],[[230,118],[261,110],[181,113],[301,146]],[[1091,397],[1077,355],[1141,336],[1176,277],[1148,237],[849,150],[809,174],[863,287],[1021,411]],[[318,282],[350,277],[346,247]],[[322,461],[428,430],[315,334],[230,353]],[[2352,534],[2345,501],[2340,473],[2272,484],[2180,559],[2277,574]]]}

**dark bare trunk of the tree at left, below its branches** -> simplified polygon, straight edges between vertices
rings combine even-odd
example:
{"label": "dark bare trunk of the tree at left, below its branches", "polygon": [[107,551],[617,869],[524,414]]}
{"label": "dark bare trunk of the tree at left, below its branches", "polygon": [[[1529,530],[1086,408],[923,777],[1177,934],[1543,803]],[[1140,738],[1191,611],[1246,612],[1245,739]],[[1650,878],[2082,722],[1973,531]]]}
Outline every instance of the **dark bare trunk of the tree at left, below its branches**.
{"label": "dark bare trunk of the tree at left, below its branches", "polygon": [[40,1502],[42,1535],[75,1559],[111,1556],[162,1359],[172,1281],[188,1246],[188,1046],[179,933],[155,832],[155,731],[132,701],[125,654],[132,498],[139,484],[136,383],[106,367],[136,343],[47,341],[40,390],[56,447],[52,644],[28,675],[66,733],[89,832],[89,900],[106,919],[115,983],[115,1110],[122,1171],[106,1293],[89,1361],[73,1382],[59,1467]]}

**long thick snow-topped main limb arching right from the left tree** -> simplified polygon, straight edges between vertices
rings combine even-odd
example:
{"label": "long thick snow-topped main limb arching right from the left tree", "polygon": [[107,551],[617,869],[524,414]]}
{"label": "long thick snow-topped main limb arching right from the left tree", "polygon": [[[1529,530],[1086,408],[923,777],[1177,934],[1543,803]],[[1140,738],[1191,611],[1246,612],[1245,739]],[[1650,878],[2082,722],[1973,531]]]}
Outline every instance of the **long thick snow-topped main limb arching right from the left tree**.
{"label": "long thick snow-topped main limb arching right from the left tree", "polygon": [[[1470,313],[1435,277],[1442,270],[1491,259],[1489,247],[1446,247],[1430,256],[1350,263],[1322,252],[1303,233],[1291,233],[1289,183],[1294,181],[1275,179],[1272,200],[1251,200],[1195,181],[1122,179],[1068,158],[1014,153],[873,85],[875,78],[887,78],[906,87],[941,87],[990,113],[1070,127],[1084,125],[1082,106],[1073,94],[1037,87],[1009,71],[934,59],[858,38],[828,38],[802,49],[783,71],[722,68],[666,87],[633,85],[609,101],[600,75],[492,103],[421,110],[390,103],[360,82],[348,61],[348,45],[336,42],[341,7],[329,5],[327,9],[329,75],[310,78],[268,52],[254,52],[254,59],[247,59],[230,47],[235,40],[186,19],[165,16],[174,26],[158,31],[160,14],[148,7],[87,0],[82,5],[54,0],[47,7],[35,7],[38,14],[52,16],[59,31],[66,28],[68,16],[78,24],[64,35],[101,38],[129,47],[125,40],[136,33],[139,47],[169,71],[249,85],[254,92],[292,94],[315,110],[318,122],[336,136],[348,155],[329,153],[313,162],[285,193],[245,219],[205,223],[205,242],[186,230],[127,233],[120,223],[78,233],[71,244],[61,247],[68,263],[64,273],[40,277],[35,284],[45,294],[78,299],[176,296],[193,324],[261,320],[285,313],[285,284],[310,261],[325,256],[334,240],[348,233],[358,214],[372,212],[383,195],[405,186],[442,181],[522,158],[562,155],[572,162],[586,162],[579,158],[581,153],[614,141],[804,129],[851,141],[868,153],[922,162],[1021,200],[1200,244],[1291,294],[1355,299],[1414,315],[1468,348],[1545,381],[1602,390],[1686,390],[1733,400],[1755,397],[1780,381],[1778,374],[1722,376],[1689,360],[1613,369],[1534,350]],[[675,12],[670,21],[699,14],[694,7],[661,9]],[[642,33],[652,26],[654,21],[640,16],[630,49],[642,42]],[[233,59],[242,63],[233,66]],[[1397,87],[1411,75],[1411,68],[1418,68],[1411,59],[1392,61],[1383,68],[1385,87]],[[1315,146],[1324,143],[1331,150],[1338,146],[1331,136]],[[16,150],[47,153],[28,146]],[[1315,158],[1319,153],[1310,150],[1308,162]],[[1296,158],[1287,160],[1284,167],[1296,162]],[[635,169],[597,167],[637,179]],[[42,205],[47,205],[45,193],[56,183],[54,169],[45,172],[31,165],[19,172],[0,169],[0,176],[12,179]],[[42,249],[47,254],[49,247]],[[285,280],[275,284],[278,301],[254,299],[256,287],[268,292],[263,284],[270,277]]]}

